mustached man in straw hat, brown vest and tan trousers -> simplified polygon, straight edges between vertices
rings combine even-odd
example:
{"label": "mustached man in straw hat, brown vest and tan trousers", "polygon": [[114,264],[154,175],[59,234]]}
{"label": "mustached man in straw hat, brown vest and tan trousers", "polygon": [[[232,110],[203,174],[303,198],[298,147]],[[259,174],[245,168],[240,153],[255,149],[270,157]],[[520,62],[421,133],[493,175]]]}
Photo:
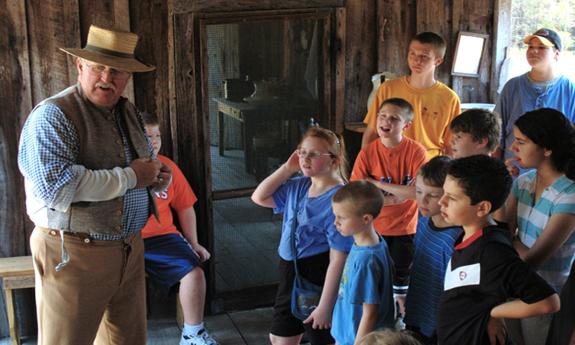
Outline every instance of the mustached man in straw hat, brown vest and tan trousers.
{"label": "mustached man in straw hat, brown vest and tan trousers", "polygon": [[121,97],[138,36],[90,27],[76,57],[78,83],[38,104],[20,140],[38,344],[146,343],[144,246],[153,190],[171,171],[152,157],[142,120]]}

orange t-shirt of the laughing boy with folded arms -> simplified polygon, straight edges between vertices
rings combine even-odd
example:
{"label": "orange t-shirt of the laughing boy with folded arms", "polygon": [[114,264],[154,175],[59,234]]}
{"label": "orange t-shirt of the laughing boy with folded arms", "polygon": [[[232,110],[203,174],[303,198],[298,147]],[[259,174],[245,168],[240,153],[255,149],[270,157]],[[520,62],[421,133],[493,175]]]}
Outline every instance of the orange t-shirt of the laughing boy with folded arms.
{"label": "orange t-shirt of the laughing boy with folded arms", "polygon": [[[364,147],[355,160],[351,180],[371,177],[386,183],[412,185],[419,168],[425,163],[426,149],[403,137],[394,148],[385,147],[380,139]],[[414,234],[417,227],[417,204],[406,200],[398,205],[384,205],[375,219],[375,230],[384,236]]]}

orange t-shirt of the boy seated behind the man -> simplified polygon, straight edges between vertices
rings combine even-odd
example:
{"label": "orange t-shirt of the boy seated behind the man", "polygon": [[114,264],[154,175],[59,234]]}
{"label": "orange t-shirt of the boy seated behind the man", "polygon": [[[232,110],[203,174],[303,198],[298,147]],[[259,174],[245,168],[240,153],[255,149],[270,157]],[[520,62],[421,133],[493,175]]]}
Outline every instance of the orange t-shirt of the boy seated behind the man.
{"label": "orange t-shirt of the boy seated behind the man", "polygon": [[158,222],[154,215],[151,215],[142,229],[143,238],[178,234],[179,231],[174,225],[172,209],[175,211],[185,210],[193,207],[198,200],[192,187],[190,187],[190,184],[176,163],[162,155],[158,155],[158,159],[172,169],[172,183],[170,183],[166,191],[155,193],[160,222]]}

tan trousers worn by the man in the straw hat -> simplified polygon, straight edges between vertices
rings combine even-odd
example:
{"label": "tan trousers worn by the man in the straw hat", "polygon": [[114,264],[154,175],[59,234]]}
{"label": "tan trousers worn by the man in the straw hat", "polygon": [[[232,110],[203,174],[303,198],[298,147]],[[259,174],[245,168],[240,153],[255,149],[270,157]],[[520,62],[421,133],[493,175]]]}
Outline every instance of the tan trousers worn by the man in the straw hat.
{"label": "tan trousers worn by the man in the straw hat", "polygon": [[36,227],[30,238],[36,279],[38,345],[144,345],[144,245],[65,235],[70,262],[59,272],[58,231]]}

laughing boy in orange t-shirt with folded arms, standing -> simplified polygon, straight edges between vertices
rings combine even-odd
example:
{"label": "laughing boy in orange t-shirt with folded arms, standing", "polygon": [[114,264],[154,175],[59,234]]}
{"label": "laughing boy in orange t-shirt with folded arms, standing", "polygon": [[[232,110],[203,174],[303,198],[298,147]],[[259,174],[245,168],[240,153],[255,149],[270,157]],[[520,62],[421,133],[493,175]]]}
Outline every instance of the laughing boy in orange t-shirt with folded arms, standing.
{"label": "laughing boy in orange t-shirt with folded arms, standing", "polygon": [[413,108],[404,99],[383,101],[377,111],[379,140],[361,149],[351,173],[351,180],[368,180],[384,192],[385,206],[374,227],[385,238],[394,261],[393,289],[400,315],[409,284],[417,226],[415,176],[426,161],[425,147],[403,136],[412,119]]}

